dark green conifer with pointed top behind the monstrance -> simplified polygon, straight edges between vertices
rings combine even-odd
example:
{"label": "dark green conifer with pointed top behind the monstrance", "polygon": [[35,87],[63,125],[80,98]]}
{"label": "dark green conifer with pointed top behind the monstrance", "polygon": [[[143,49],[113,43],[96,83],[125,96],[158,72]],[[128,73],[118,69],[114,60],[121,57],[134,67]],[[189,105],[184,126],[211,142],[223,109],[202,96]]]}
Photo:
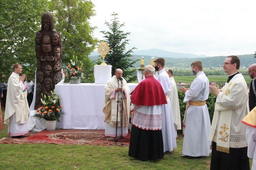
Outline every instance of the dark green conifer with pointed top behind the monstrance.
{"label": "dark green conifer with pointed top behind the monstrance", "polygon": [[115,73],[115,69],[123,70],[123,77],[125,77],[127,82],[133,82],[137,79],[136,75],[133,73],[136,71],[134,67],[134,63],[137,60],[131,59],[133,56],[131,55],[132,51],[136,48],[133,47],[126,51],[125,46],[129,44],[129,40],[126,39],[130,32],[123,32],[121,28],[125,26],[124,24],[120,24],[118,18],[116,17],[118,14],[113,13],[114,19],[112,19],[112,23],[105,22],[110,31],[101,31],[105,34],[104,38],[107,38],[105,42],[109,44],[110,52],[105,57],[105,62],[112,66],[112,75]]}

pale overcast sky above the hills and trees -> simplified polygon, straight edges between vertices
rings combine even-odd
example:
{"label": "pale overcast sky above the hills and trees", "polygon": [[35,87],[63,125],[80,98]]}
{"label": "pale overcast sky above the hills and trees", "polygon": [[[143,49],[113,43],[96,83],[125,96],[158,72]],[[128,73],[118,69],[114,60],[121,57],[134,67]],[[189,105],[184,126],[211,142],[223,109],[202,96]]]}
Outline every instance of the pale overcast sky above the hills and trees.
{"label": "pale overcast sky above the hills and trees", "polygon": [[254,54],[256,0],[92,0],[97,26],[109,31],[113,12],[121,28],[131,32],[126,48],[192,53],[207,56]]}

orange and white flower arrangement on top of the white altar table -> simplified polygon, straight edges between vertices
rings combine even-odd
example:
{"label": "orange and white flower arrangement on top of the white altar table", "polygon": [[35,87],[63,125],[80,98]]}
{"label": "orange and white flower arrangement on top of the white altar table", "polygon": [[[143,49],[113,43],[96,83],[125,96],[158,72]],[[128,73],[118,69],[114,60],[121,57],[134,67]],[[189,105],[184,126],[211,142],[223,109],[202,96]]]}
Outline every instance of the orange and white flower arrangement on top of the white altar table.
{"label": "orange and white flower arrangement on top of the white altar table", "polygon": [[63,73],[66,73],[68,80],[83,79],[82,61],[78,61],[77,56],[73,56],[73,60],[71,59],[70,62],[71,63],[66,67],[66,71],[63,71]]}

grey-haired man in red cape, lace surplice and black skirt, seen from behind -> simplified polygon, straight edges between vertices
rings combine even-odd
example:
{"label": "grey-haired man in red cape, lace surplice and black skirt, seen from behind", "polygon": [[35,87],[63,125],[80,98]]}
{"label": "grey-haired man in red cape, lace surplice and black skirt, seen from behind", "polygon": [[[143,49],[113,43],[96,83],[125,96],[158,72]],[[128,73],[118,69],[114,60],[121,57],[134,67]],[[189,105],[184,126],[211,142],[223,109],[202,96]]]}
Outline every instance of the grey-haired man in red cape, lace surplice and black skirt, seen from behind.
{"label": "grey-haired man in red cape, lace surplice and black skirt, seen from behind", "polygon": [[136,159],[156,160],[164,156],[162,137],[162,104],[167,104],[164,90],[154,77],[155,68],[146,66],[145,80],[131,95],[131,138],[128,155]]}

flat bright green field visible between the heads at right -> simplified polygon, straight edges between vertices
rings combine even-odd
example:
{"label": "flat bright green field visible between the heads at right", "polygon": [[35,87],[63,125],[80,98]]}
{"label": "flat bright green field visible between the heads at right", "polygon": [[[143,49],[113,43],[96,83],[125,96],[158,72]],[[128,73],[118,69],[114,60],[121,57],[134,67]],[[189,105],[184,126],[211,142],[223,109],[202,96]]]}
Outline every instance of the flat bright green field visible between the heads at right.
{"label": "flat bright green field visible between the heads at right", "polygon": [[[243,75],[245,77],[245,81],[247,84],[250,84],[251,78],[249,75]],[[194,75],[177,75],[173,76],[175,82],[178,83],[187,83],[191,84],[193,80],[196,78]],[[224,84],[227,81],[227,75],[208,75],[207,78],[209,79],[209,82],[215,82],[218,84]]]}

